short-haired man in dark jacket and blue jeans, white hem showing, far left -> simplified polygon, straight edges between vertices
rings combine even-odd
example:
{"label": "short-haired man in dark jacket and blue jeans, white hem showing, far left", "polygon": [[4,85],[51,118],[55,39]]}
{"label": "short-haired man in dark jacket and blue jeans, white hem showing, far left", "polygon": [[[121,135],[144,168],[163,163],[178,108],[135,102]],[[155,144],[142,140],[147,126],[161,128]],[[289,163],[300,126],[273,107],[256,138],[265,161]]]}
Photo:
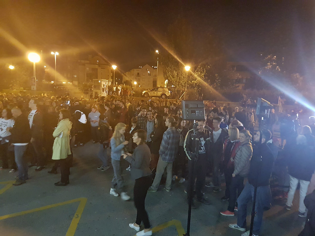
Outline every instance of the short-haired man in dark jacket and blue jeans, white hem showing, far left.
{"label": "short-haired man in dark jacket and blue jeans, white hem showing, far left", "polygon": [[31,140],[31,129],[27,118],[22,115],[20,108],[12,108],[12,115],[15,119],[15,123],[12,128],[8,127],[7,130],[11,132],[10,141],[14,145],[14,157],[19,170],[18,179],[13,185],[21,185],[26,183],[28,179],[28,166],[24,154]]}

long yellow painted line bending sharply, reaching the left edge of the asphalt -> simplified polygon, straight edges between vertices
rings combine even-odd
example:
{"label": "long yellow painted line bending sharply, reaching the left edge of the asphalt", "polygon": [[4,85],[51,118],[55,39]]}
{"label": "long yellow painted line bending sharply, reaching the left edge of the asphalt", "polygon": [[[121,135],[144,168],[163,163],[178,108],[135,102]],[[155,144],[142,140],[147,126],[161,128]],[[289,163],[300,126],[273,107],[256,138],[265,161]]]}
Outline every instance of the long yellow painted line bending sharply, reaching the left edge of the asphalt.
{"label": "long yellow painted line bending sharply, reaching the left edge of the asphalt", "polygon": [[59,203],[55,203],[55,204],[52,204],[52,205],[47,205],[47,206],[34,208],[34,209],[31,209],[31,210],[28,210],[28,211],[21,211],[21,212],[17,212],[17,213],[5,215],[5,216],[0,216],[0,220],[8,219],[8,218],[15,217],[15,216],[22,216],[22,215],[25,215],[25,214],[28,214],[28,213],[32,213],[32,212],[36,212],[36,211],[42,211],[42,210],[46,210],[46,209],[49,209],[49,208],[62,206],[62,205],[66,205],[66,204],[71,204],[71,203],[79,201],[80,204],[79,204],[79,206],[77,208],[76,213],[73,216],[71,224],[70,224],[70,226],[68,228],[68,231],[66,233],[66,236],[73,236],[74,233],[76,232],[77,225],[79,223],[79,220],[81,218],[81,215],[82,215],[82,212],[84,210],[84,207],[85,207],[85,204],[86,204],[87,200],[88,200],[87,198],[72,199],[72,200],[65,201],[65,202],[59,202]]}

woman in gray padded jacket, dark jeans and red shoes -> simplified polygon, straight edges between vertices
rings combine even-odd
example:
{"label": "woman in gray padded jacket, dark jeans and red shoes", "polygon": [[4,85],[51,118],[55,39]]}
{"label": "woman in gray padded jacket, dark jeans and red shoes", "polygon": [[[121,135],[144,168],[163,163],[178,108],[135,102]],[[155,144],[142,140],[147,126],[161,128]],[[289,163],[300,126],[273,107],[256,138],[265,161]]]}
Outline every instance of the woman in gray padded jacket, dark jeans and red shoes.
{"label": "woman in gray padded jacket, dark jeans and red shoes", "polygon": [[248,175],[250,159],[253,155],[253,148],[250,142],[252,138],[248,130],[239,132],[240,146],[236,150],[236,155],[231,161],[234,163],[234,171],[232,174],[232,183],[230,185],[230,199],[227,211],[220,212],[223,216],[234,216],[234,211],[237,211],[235,202],[244,188],[244,177]]}

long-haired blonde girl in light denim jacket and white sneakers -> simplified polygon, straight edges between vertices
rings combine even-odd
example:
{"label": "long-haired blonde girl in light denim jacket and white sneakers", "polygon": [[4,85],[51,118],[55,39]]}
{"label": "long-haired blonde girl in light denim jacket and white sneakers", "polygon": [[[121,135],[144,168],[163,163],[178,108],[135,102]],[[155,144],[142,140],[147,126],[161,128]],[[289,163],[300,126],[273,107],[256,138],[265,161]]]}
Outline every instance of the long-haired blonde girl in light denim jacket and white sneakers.
{"label": "long-haired blonde girl in light denim jacket and white sneakers", "polygon": [[[115,126],[115,131],[111,138],[111,157],[112,157],[112,166],[114,169],[114,177],[112,179],[112,188],[109,192],[115,197],[121,196],[121,199],[124,201],[128,201],[130,197],[126,193],[125,184],[122,177],[122,168],[120,163],[120,158],[124,153],[123,148],[125,145],[129,143],[129,141],[125,141],[124,133],[126,131],[126,125],[124,123],[118,123]],[[117,188],[116,188],[117,187]],[[118,193],[117,193],[118,192]]]}

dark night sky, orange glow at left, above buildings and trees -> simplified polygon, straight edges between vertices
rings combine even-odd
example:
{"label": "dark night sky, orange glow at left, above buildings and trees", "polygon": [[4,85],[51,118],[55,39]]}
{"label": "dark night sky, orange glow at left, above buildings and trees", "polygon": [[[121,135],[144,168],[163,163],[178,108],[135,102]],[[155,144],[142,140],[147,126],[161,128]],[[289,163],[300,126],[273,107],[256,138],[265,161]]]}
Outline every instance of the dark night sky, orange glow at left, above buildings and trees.
{"label": "dark night sky, orange glow at left, above buildings and trees", "polygon": [[[277,52],[294,57],[295,70],[303,73],[304,62],[314,62],[314,6],[314,1],[1,1],[0,27],[29,49],[50,53],[67,45],[82,55],[100,53],[124,72],[153,63],[162,46],[149,32],[167,38],[168,26],[182,17],[195,43],[211,29],[230,60]],[[2,35],[0,47],[1,58],[24,55]]]}

